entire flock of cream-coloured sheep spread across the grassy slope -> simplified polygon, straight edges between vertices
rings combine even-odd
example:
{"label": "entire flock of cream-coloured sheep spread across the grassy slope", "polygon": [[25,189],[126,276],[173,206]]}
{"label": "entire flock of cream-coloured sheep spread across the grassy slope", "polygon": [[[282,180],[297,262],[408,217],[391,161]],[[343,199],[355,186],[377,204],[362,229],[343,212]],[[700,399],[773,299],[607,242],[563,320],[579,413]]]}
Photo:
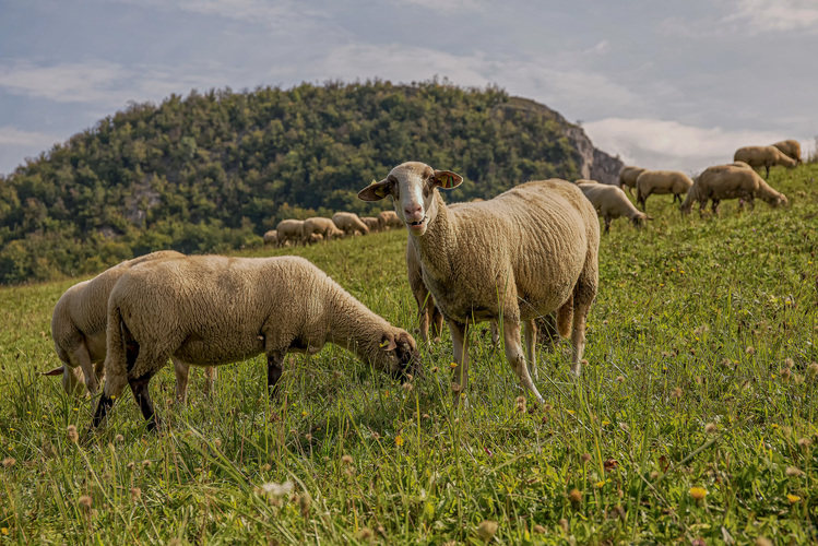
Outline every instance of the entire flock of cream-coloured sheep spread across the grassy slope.
{"label": "entire flock of cream-coloured sheep spread across the grassy slope", "polygon": [[[794,145],[793,145],[794,144]],[[503,337],[506,358],[521,385],[543,401],[537,378],[537,324],[570,337],[571,371],[581,371],[585,321],[598,288],[600,223],[625,216],[650,219],[621,188],[637,189],[637,203],[651,194],[673,194],[689,212],[708,200],[756,197],[772,205],[786,198],[770,188],[754,167],[794,166],[795,141],[736,152],[735,163],[706,169],[696,181],[681,173],[625,167],[619,186],[593,180],[526,182],[487,201],[447,205],[439,190],[463,178],[417,162],[393,168],[358,192],[364,201],[391,195],[394,212],[378,218],[336,213],[332,218],[286,219],[265,236],[276,246],[331,240],[356,232],[405,226],[407,276],[420,317],[420,335],[436,334],[446,319],[455,363],[452,393],[465,396],[470,328],[490,321]],[[687,193],[685,201],[681,194]],[[273,235],[274,234],[274,235]],[[270,240],[272,239],[272,240]],[[549,319],[550,318],[550,322]],[[521,343],[521,328],[524,324]],[[93,418],[106,418],[114,401],[130,387],[150,429],[161,424],[149,393],[151,378],[168,359],[176,370],[176,396],[185,402],[191,365],[214,367],[264,354],[268,389],[274,396],[288,352],[316,353],[327,343],[396,379],[423,372],[412,335],[369,310],[316,265],[303,258],[226,258],[159,251],[126,261],[69,288],[51,322],[67,392],[105,384]],[[82,377],[80,377],[82,376]]]}

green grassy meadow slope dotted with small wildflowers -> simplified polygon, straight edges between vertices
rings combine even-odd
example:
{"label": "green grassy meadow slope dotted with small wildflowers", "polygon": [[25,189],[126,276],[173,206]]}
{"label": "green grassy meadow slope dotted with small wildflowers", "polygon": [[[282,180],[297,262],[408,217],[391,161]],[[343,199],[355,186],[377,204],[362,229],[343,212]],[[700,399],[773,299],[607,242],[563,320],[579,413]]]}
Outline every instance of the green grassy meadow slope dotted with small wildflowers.
{"label": "green grassy meadow slope dotted with small wildflowers", "polygon": [[[58,365],[50,313],[76,280],[0,289],[0,544],[818,542],[816,177],[773,170],[786,210],[680,218],[652,197],[645,229],[617,221],[590,364],[573,381],[567,342],[540,351],[544,406],[515,401],[478,327],[466,410],[447,334],[411,389],[328,346],[288,356],[275,403],[257,358],[223,367],[210,399],[194,370],[178,407],[168,367],[152,392],[169,431],[146,432],[128,395],[78,443],[68,428],[96,401],[38,376]],[[392,232],[293,252],[413,328],[404,245]]]}

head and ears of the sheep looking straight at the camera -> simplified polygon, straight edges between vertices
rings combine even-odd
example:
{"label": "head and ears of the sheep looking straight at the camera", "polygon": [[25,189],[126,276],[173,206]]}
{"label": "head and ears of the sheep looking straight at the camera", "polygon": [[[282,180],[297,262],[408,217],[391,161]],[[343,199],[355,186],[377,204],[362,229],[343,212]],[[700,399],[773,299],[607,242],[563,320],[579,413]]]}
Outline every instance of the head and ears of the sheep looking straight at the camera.
{"label": "head and ears of the sheep looking straight at the camera", "polygon": [[406,225],[410,234],[420,236],[426,233],[429,222],[435,218],[435,189],[452,189],[460,186],[463,177],[451,170],[436,170],[425,163],[403,163],[380,182],[371,183],[358,192],[363,201],[380,201],[392,195],[395,213]]}

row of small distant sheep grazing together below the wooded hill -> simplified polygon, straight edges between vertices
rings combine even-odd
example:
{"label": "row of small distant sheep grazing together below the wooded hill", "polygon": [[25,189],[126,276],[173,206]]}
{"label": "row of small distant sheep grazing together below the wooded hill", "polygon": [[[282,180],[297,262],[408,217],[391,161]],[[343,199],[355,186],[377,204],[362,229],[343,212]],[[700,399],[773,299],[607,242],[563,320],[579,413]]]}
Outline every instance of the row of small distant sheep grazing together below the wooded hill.
{"label": "row of small distant sheep grazing together below the wooded hill", "polygon": [[307,219],[283,219],[275,229],[263,236],[264,245],[272,247],[297,246],[305,247],[319,241],[329,241],[353,235],[369,235],[371,232],[403,227],[398,215],[392,211],[383,211],[375,216],[359,217],[353,212],[336,212],[332,218],[313,216]]}

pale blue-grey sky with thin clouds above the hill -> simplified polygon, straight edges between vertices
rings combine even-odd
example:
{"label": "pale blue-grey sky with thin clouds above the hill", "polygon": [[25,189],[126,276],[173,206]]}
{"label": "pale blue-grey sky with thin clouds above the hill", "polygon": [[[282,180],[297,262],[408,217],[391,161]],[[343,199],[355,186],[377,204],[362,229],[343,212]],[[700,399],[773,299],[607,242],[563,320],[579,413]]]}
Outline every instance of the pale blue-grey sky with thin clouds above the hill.
{"label": "pale blue-grey sky with thin clouds above the hill", "polygon": [[817,51],[818,0],[0,0],[0,174],[130,102],[435,76],[697,173],[783,139],[815,154]]}

